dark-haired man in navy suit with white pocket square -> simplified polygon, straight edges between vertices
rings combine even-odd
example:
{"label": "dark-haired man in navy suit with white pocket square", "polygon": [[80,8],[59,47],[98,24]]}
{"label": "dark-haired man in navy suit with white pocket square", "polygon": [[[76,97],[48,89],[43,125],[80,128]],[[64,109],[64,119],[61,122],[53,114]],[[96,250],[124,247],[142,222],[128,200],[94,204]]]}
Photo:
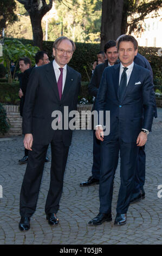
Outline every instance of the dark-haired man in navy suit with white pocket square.
{"label": "dark-haired man in navy suit with white pocket square", "polygon": [[133,62],[138,52],[137,40],[131,35],[123,36],[118,42],[118,52],[121,63],[103,71],[95,103],[98,113],[110,111],[110,132],[104,136],[103,124],[96,127],[96,137],[101,140],[100,210],[89,221],[90,225],[112,221],[113,179],[119,151],[121,184],[114,224],[126,223],[138,148],[147,141],[154,115],[150,71]]}

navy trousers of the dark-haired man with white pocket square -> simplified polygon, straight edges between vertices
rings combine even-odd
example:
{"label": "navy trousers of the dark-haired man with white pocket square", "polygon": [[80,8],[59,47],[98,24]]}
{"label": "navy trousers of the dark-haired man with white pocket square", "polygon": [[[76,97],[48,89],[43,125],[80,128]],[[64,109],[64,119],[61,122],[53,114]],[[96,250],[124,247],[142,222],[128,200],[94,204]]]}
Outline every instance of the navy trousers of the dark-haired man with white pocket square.
{"label": "navy trousers of the dark-haired man with white pocket square", "polygon": [[109,213],[112,210],[113,180],[120,151],[120,189],[116,212],[126,214],[134,187],[135,164],[138,147],[136,143],[123,141],[101,142],[100,169],[100,212]]}

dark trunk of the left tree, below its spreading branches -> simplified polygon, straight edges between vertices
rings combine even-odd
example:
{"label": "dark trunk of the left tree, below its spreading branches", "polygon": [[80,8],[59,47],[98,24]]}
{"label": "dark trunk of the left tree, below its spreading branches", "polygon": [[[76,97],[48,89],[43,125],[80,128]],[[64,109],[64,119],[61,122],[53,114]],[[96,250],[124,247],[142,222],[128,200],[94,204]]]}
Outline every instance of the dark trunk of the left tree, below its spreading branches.
{"label": "dark trunk of the left tree, below its spreading branches", "polygon": [[31,20],[31,26],[33,31],[33,40],[34,45],[38,46],[40,50],[42,50],[43,47],[43,31],[42,31],[42,17],[40,17],[40,14],[33,14],[30,13],[30,20]]}

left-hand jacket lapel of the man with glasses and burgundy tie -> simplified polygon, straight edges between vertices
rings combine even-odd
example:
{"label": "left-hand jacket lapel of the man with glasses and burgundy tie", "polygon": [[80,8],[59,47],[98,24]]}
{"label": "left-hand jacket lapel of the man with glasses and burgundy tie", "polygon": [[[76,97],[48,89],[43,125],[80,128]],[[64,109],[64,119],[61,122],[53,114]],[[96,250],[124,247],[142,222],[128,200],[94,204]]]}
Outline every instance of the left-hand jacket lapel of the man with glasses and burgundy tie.
{"label": "left-hand jacket lapel of the man with glasses and burgundy tie", "polygon": [[53,62],[50,62],[49,64],[46,65],[46,76],[49,82],[49,86],[53,89],[57,99],[60,100]]}

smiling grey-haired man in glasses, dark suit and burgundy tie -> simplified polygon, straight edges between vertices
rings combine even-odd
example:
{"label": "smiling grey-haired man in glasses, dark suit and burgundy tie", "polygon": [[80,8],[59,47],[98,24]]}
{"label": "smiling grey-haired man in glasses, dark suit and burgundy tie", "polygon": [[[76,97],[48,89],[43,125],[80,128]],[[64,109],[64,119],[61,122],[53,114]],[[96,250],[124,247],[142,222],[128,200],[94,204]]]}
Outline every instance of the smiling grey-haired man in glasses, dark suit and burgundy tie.
{"label": "smiling grey-haired man in glasses, dark suit and burgundy tie", "polygon": [[74,51],[74,42],[61,36],[53,45],[54,61],[34,69],[29,78],[23,108],[24,147],[30,150],[20,194],[19,228],[23,231],[29,230],[30,217],[36,210],[49,143],[51,170],[45,212],[49,224],[59,223],[56,213],[59,210],[72,130],[53,130],[54,118],[51,116],[54,111],[60,111],[64,120],[68,118],[64,117],[65,106],[68,107],[68,114],[76,109],[81,74],[67,65]]}

